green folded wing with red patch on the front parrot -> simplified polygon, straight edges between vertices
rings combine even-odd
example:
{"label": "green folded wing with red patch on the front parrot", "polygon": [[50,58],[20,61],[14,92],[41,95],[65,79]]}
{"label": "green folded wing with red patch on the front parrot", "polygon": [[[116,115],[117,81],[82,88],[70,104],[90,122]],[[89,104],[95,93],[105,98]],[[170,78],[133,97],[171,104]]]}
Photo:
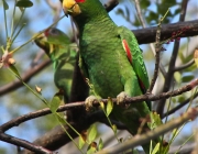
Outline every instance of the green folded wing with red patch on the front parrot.
{"label": "green folded wing with red patch on the front parrot", "polygon": [[[139,84],[143,94],[150,87],[150,80],[146,72],[146,67],[143,61],[142,51],[139,47],[139,43],[130,30],[124,26],[118,28],[118,33],[122,42],[122,46],[125,51],[128,59],[130,61],[136,76]],[[147,102],[148,108],[151,109],[151,102]]]}

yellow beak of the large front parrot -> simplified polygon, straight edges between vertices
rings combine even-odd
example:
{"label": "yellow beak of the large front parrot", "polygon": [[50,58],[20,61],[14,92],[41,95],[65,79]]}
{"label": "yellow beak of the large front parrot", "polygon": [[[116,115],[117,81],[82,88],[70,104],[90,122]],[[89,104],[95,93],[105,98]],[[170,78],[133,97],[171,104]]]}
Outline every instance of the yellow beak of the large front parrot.
{"label": "yellow beak of the large front parrot", "polygon": [[63,9],[66,16],[68,16],[68,14],[76,16],[81,13],[80,8],[75,0],[64,0]]}

